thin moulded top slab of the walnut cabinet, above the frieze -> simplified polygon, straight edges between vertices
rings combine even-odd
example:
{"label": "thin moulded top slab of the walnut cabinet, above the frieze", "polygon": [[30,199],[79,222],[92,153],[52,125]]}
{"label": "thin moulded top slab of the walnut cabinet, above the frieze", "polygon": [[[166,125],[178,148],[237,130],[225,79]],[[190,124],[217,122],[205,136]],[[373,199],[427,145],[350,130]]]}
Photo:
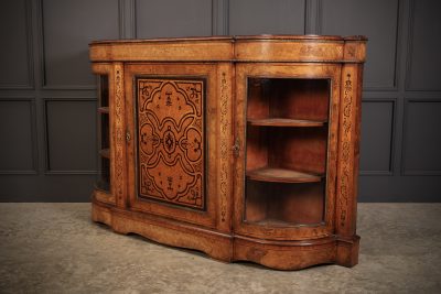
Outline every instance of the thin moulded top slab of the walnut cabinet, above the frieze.
{"label": "thin moulded top slab of the walnut cabinet, above the frieze", "polygon": [[367,41],[364,35],[234,35],[234,36],[187,36],[187,37],[157,37],[157,39],[126,39],[126,40],[99,40],[89,45],[99,44],[133,44],[158,42],[244,42],[244,41]]}

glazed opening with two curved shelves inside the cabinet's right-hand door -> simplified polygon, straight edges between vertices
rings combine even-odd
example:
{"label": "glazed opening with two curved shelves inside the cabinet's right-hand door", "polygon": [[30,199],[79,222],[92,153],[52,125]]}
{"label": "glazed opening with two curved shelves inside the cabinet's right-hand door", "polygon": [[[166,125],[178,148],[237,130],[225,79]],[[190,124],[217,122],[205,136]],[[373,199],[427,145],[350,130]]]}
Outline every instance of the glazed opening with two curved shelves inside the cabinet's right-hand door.
{"label": "glazed opening with two curved shelves inside the cabinet's right-hand door", "polygon": [[245,221],[265,227],[323,221],[330,84],[248,79]]}

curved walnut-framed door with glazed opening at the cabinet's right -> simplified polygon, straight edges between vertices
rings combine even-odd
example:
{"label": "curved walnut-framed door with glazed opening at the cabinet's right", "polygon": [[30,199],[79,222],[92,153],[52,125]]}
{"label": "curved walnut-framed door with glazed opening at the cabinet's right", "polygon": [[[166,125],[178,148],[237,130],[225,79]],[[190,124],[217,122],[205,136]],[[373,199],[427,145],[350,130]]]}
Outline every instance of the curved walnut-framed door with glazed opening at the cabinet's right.
{"label": "curved walnut-framed door with glazed opening at the cabinet's right", "polygon": [[332,236],[340,83],[340,65],[237,66],[236,233]]}

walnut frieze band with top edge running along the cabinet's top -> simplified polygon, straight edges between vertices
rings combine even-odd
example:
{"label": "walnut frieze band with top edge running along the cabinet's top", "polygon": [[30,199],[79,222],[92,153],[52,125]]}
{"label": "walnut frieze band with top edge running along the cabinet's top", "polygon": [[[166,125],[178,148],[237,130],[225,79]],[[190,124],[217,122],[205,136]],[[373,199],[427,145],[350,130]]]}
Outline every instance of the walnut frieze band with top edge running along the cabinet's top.
{"label": "walnut frieze band with top edge running along the cabinet's top", "polygon": [[248,35],[96,41],[92,62],[355,62],[365,36]]}

